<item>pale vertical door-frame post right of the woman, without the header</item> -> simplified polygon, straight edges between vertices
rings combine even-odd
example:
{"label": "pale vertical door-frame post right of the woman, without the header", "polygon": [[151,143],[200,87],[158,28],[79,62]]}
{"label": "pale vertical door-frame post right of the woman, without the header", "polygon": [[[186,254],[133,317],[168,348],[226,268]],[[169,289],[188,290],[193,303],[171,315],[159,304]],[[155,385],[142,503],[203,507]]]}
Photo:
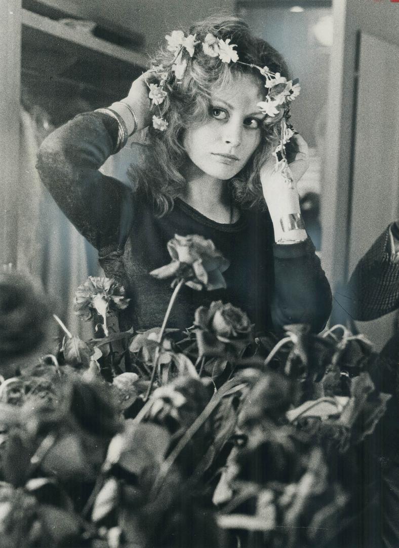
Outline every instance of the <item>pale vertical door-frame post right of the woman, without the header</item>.
{"label": "pale vertical door-frame post right of the woman, without the header", "polygon": [[346,270],[356,37],[348,34],[348,1],[333,0],[334,38],[322,189],[322,260],[332,286]]}

